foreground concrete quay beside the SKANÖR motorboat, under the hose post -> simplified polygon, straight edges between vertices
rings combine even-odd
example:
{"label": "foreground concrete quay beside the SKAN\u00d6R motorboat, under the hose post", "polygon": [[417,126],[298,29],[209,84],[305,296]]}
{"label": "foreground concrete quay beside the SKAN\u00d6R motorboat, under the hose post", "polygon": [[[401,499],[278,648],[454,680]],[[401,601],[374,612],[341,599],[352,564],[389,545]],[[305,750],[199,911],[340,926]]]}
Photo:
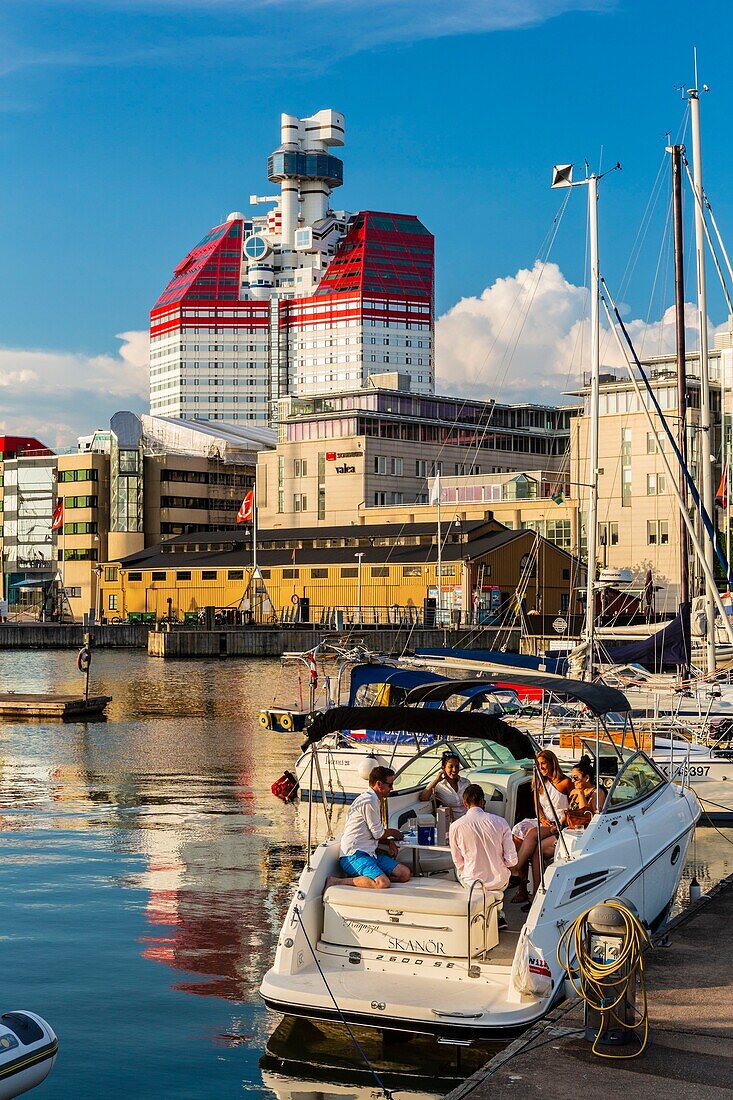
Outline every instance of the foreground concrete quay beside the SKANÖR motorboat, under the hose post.
{"label": "foreground concrete quay beside the SKAN\u00d6R motorboat, under the hose post", "polygon": [[[733,876],[668,925],[646,956],[650,1041],[609,1060],[578,1028],[582,1003],[562,1005],[445,1100],[730,1100],[733,1094]],[[622,1054],[624,1048],[611,1049]]]}

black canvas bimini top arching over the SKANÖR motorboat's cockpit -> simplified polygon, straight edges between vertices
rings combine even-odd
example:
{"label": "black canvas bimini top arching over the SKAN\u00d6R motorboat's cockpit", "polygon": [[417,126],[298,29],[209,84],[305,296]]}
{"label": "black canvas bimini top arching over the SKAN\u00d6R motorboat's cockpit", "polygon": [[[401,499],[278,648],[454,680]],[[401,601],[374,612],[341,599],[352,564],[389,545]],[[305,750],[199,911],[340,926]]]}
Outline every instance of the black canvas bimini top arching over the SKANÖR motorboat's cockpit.
{"label": "black canvas bimini top arching over the SKAN\u00d6R motorboat's cockpit", "polygon": [[534,757],[537,748],[527,734],[489,714],[464,711],[433,711],[412,706],[336,706],[321,711],[307,727],[305,750],[328,734],[347,729],[379,729],[393,733],[434,734],[449,740],[484,739],[503,745],[516,760]]}

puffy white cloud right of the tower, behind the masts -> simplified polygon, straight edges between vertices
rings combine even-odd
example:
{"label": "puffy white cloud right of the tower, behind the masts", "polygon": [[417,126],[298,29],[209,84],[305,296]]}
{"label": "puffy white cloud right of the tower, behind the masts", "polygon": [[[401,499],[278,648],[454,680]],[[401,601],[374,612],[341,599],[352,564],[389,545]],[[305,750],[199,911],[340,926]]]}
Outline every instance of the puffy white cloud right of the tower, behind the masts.
{"label": "puffy white cloud right of the tower, behind the masts", "polygon": [[[620,311],[624,309],[620,305]],[[557,264],[499,278],[475,298],[462,298],[436,323],[436,388],[442,394],[554,404],[589,369],[587,292]],[[697,346],[696,310],[686,307],[688,348]],[[675,310],[659,321],[624,317],[639,358],[675,351]],[[601,362],[620,371],[624,359],[604,318]]]}

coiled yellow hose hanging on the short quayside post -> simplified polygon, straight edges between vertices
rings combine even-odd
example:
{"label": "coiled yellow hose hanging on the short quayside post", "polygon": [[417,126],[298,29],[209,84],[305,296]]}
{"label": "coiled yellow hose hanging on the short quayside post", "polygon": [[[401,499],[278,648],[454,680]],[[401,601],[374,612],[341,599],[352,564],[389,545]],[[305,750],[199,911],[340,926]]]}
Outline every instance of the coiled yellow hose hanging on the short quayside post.
{"label": "coiled yellow hose hanging on the short quayside post", "polygon": [[[649,1042],[649,1018],[646,997],[646,981],[644,978],[644,950],[650,946],[650,941],[646,934],[642,922],[624,904],[619,901],[602,902],[609,909],[615,910],[624,922],[623,947],[619,957],[613,963],[597,963],[588,952],[588,915],[595,909],[587,909],[584,913],[577,916],[565,930],[557,945],[557,960],[566,971],[576,993],[583,999],[586,1004],[599,1012],[601,1024],[598,1035],[593,1041],[593,1054],[599,1058],[637,1058],[643,1054]],[[571,953],[575,953],[576,965],[571,965]],[[624,975],[628,968],[628,974]],[[633,1003],[635,985],[638,977],[642,993],[643,1009],[638,1013],[638,1020],[628,1024],[619,1015],[616,1009],[626,998]],[[633,1054],[605,1054],[598,1049],[598,1041],[610,1023],[614,1026],[624,1027],[628,1031],[638,1032],[643,1028],[641,1045]],[[638,1038],[638,1036],[637,1036]]]}

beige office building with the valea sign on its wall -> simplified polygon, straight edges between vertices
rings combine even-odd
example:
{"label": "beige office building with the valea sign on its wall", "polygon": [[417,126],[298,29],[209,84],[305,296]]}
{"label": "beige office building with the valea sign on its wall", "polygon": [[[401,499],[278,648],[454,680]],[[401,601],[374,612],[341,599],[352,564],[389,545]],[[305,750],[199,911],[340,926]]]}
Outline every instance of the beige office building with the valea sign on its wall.
{"label": "beige office building with the valea sign on its wall", "polygon": [[365,509],[427,504],[436,473],[559,475],[567,462],[569,408],[416,394],[400,373],[371,383],[281,402],[277,447],[258,459],[263,527],[353,524]]}

